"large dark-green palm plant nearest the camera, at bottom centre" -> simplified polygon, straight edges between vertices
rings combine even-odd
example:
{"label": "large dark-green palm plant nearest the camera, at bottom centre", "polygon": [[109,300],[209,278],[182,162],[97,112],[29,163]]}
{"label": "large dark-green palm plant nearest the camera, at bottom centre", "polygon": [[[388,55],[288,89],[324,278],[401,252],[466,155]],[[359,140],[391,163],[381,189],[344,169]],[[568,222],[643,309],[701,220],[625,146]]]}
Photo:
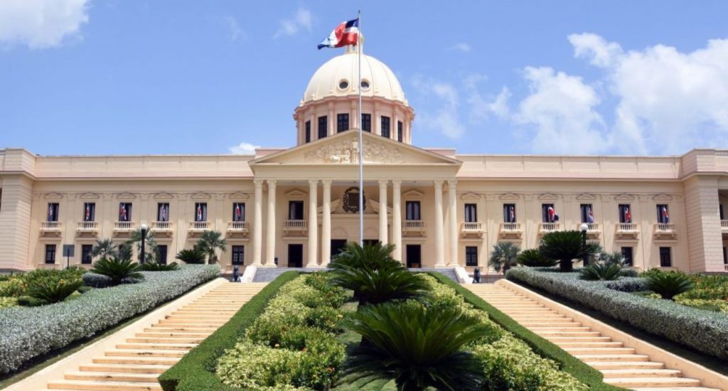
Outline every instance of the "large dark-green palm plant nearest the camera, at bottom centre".
{"label": "large dark-green palm plant nearest the camera, at bottom centre", "polygon": [[352,331],[367,344],[349,355],[345,382],[358,387],[394,379],[397,390],[478,390],[483,368],[463,347],[489,331],[453,307],[427,309],[406,301],[365,307]]}

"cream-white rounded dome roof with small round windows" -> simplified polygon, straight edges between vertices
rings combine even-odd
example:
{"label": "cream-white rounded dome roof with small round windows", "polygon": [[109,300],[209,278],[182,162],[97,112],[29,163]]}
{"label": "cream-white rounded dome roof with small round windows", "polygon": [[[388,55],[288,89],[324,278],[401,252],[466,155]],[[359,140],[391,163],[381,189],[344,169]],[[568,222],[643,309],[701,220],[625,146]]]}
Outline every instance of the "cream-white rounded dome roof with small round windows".
{"label": "cream-white rounded dome roof with small round windows", "polygon": [[[357,95],[357,86],[352,82],[357,79],[359,71],[357,57],[355,50],[347,48],[343,55],[328,60],[318,68],[306,87],[301,104],[329,96]],[[405,92],[394,72],[376,58],[363,53],[361,58],[362,81],[363,84],[368,83],[362,88],[362,96],[397,100],[407,105]]]}

